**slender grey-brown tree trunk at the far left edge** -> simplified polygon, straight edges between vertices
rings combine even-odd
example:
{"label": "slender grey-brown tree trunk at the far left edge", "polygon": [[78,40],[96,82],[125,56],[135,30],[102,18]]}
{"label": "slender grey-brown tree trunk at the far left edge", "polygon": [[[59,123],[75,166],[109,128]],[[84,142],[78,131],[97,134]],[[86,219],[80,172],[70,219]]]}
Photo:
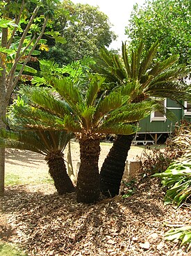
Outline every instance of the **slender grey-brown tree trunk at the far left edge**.
{"label": "slender grey-brown tree trunk at the far left edge", "polygon": [[[8,29],[3,28],[1,32],[1,47],[6,47],[8,38]],[[0,129],[6,128],[3,123],[3,116],[6,115],[6,55],[0,55]],[[4,195],[5,190],[5,149],[0,149],[0,196]]]}

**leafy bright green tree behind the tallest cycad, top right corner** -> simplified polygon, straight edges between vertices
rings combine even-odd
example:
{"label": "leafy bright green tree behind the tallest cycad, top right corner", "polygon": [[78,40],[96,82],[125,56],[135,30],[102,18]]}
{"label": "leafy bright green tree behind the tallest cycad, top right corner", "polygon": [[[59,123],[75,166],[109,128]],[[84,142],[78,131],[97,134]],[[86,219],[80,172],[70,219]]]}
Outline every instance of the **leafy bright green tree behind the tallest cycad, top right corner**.
{"label": "leafy bright green tree behind the tallest cycad, top right corner", "polygon": [[133,45],[143,40],[148,50],[156,40],[160,48],[156,57],[167,59],[179,54],[179,63],[191,63],[191,8],[190,0],[147,0],[136,4],[126,27],[126,35]]}

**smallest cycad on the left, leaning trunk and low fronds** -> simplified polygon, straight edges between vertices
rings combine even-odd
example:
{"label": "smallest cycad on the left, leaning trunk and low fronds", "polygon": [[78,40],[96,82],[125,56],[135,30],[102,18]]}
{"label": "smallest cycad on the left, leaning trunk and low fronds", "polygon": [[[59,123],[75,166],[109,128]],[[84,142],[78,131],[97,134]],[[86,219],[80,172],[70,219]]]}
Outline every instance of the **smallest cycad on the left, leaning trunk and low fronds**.
{"label": "smallest cycad on the left, leaning trunk and low fronds", "polygon": [[56,190],[59,195],[64,195],[75,190],[63,158],[63,150],[72,136],[72,133],[55,130],[0,130],[0,146],[33,151],[45,156]]}

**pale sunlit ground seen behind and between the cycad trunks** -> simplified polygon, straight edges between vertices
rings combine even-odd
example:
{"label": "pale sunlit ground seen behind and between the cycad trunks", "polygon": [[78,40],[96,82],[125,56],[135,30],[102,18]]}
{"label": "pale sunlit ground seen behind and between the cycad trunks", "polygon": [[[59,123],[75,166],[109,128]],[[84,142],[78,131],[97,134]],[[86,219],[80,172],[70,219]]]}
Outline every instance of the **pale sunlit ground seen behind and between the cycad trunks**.
{"label": "pale sunlit ground seen behind and between the cycad trunks", "polygon": [[[99,157],[99,168],[103,160],[108,154],[112,143],[101,143],[101,153]],[[77,163],[80,162],[80,151],[77,142],[71,143],[72,148],[72,164],[76,170]],[[128,160],[140,156],[143,148],[140,146],[132,146],[128,153]],[[67,149],[65,149],[65,159],[67,159]],[[31,151],[21,151],[18,149],[6,150],[6,180],[11,184],[11,180],[15,180],[15,184],[42,183],[50,182],[47,163],[44,156]]]}

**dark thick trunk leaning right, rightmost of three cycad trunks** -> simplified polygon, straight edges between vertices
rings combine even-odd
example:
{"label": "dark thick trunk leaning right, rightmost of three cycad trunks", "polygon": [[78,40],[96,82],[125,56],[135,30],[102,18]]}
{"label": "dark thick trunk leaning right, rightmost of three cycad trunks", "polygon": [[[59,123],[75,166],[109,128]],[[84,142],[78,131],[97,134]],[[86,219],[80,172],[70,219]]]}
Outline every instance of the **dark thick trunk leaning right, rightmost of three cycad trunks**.
{"label": "dark thick trunk leaning right, rightmost of three cycad trunks", "polygon": [[124,174],[126,157],[131,147],[133,135],[118,135],[108,156],[103,162],[100,172],[101,193],[108,197],[119,194]]}

